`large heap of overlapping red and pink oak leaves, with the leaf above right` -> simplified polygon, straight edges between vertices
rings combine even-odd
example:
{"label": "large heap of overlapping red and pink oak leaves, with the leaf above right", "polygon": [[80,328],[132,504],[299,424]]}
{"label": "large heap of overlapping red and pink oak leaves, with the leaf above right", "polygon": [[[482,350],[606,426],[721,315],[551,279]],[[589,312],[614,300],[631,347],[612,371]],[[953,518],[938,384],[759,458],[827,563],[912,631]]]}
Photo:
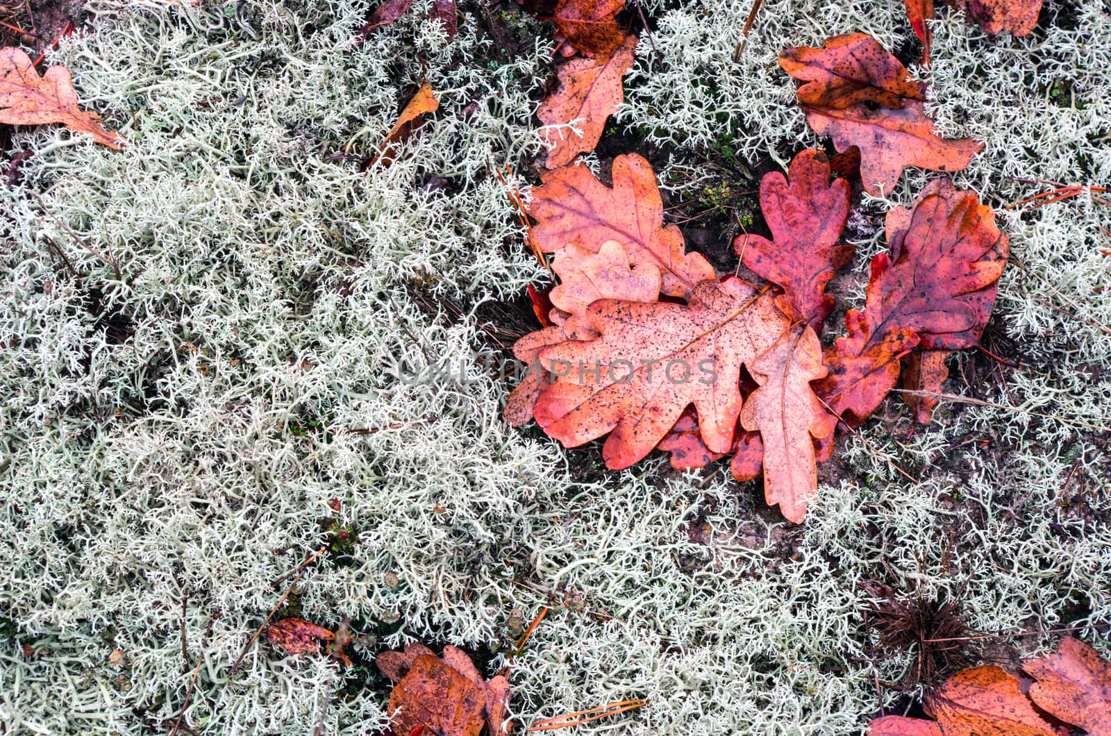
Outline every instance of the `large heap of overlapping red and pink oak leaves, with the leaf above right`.
{"label": "large heap of overlapping red and pink oak leaves, with the leaf above right", "polygon": [[[633,43],[612,58],[631,58]],[[865,191],[890,191],[907,166],[961,169],[981,148],[940,138],[923,87],[869,36],[788,49],[780,64],[805,82],[798,98],[811,127],[859,156]],[[611,77],[597,72],[600,83]],[[787,177],[761,181],[772,239],[734,242],[767,280],[750,284],[687,252],[679,229],[663,222],[643,158],[619,156],[610,187],[573,162],[589,140],[597,137],[549,151],[559,168],[541,173],[528,205],[532,246],[553,253],[559,285],[548,314],[539,310],[544,328],[514,346],[530,370],[509,398],[511,424],[536,419],[568,447],[608,435],[610,468],[655,448],[684,469],[732,454],[733,475],[762,471],[768,503],[801,523],[839,421],[862,422],[900,376],[915,418],[929,421],[945,357],[978,345],[1008,256],[974,192],[941,178],[888,213],[889,251],[872,259],[865,308],[850,310],[847,334],[823,350],[834,304],[825,287],[853,251],[841,240],[851,186],[832,177],[823,153],[802,151]]]}

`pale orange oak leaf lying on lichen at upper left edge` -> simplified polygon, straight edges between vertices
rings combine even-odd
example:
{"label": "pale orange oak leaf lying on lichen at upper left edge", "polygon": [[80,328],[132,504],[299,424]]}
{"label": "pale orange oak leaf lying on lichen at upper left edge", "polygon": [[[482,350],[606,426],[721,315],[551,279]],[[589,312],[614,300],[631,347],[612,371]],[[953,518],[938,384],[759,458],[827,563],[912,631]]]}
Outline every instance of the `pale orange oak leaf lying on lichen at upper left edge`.
{"label": "pale orange oak leaf lying on lichen at upper left edge", "polygon": [[0,49],[0,123],[40,126],[61,122],[119,150],[126,140],[100,125],[100,116],[78,107],[73,80],[64,67],[39,77],[30,57],[16,48]]}

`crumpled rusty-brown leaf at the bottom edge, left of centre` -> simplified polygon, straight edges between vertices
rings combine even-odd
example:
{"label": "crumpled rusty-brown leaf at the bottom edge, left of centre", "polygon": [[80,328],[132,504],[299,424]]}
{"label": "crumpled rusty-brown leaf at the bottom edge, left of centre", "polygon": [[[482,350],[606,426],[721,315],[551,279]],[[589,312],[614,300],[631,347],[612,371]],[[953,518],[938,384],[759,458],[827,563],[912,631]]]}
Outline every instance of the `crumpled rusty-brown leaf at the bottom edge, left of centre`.
{"label": "crumpled rusty-brown leaf at the bottom edge, left of centre", "polygon": [[390,692],[391,727],[411,734],[426,727],[439,736],[478,736],[486,725],[500,734],[509,705],[509,680],[483,680],[467,654],[451,645],[440,657],[420,644],[383,652],[378,668],[397,685]]}

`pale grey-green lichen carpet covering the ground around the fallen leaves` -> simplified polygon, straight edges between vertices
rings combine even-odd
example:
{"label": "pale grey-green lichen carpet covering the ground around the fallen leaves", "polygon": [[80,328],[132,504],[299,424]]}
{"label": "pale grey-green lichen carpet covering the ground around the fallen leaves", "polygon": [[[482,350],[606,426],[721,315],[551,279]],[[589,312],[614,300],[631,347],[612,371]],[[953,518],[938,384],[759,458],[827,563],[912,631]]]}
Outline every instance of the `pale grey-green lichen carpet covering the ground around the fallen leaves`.
{"label": "pale grey-green lichen carpet covering the ground around the fallen leaves", "polygon": [[[625,105],[584,158],[653,166],[668,222],[721,272],[768,235],[760,177],[815,138],[775,63],[867,32],[922,79],[954,175],[1012,258],[982,350],[954,355],[934,420],[889,397],[839,436],[803,525],[728,463],[657,452],[604,468],[501,418],[508,357],[537,329],[524,246],[494,167],[540,183],[554,27],[460,2],[453,39],[417,0],[356,46],[370,0],[64,0],[7,9],[128,139],[3,126],[0,187],[0,733],[366,734],[374,656],[454,644],[509,666],[526,726],[628,698],[581,734],[859,733],[917,708],[914,652],[878,650],[877,583],[969,629],[949,662],[1007,667],[1111,626],[1111,17],[1049,0],[1034,32],[942,9],[933,63],[898,2],[647,0]],[[72,21],[72,34],[63,31]],[[644,27],[644,23],[648,27]],[[60,39],[57,49],[51,48]],[[422,81],[439,111],[364,163]],[[854,192],[859,308],[887,198]],[[399,366],[447,362],[404,381]],[[975,401],[980,401],[979,404]],[[287,574],[316,550],[291,595]],[[274,607],[358,638],[344,668],[247,646]],[[548,607],[518,657],[514,641]],[[241,652],[246,656],[232,673]],[[188,728],[188,730],[186,730]]]}

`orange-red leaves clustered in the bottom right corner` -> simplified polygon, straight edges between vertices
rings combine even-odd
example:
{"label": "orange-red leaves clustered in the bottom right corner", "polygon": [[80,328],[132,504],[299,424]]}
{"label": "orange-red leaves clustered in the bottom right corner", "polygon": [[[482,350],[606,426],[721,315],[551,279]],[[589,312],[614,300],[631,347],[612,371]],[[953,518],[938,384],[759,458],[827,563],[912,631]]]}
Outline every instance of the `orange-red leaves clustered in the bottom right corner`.
{"label": "orange-red leaves clustered in the bottom right corner", "polygon": [[1083,641],[1064,637],[1055,654],[1022,663],[1030,678],[994,665],[963,669],[927,696],[933,720],[884,716],[871,736],[1061,736],[1084,729],[1111,735],[1111,663]]}

